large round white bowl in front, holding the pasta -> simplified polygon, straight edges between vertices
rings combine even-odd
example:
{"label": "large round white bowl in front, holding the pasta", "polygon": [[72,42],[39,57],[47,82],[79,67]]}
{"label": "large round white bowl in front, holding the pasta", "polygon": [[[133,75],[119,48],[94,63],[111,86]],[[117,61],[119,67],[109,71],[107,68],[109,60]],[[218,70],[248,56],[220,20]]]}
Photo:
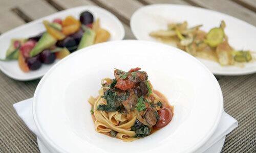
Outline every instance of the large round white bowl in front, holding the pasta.
{"label": "large round white bowl in front, holding the pasta", "polygon": [[[131,143],[95,132],[87,99],[97,95],[102,78],[114,77],[114,68],[137,66],[174,106],[172,122]],[[138,40],[89,46],[61,60],[41,79],[33,101],[42,141],[59,152],[195,151],[216,130],[222,111],[220,86],[196,58],[168,45]]]}

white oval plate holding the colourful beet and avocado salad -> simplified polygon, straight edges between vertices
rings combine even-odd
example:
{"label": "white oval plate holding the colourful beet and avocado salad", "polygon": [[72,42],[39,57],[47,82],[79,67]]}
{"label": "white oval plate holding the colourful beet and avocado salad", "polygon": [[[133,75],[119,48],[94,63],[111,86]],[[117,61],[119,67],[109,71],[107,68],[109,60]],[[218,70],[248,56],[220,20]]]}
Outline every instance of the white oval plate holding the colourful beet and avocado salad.
{"label": "white oval plate holding the colourful beet and avocado salad", "polygon": [[[12,38],[26,38],[37,35],[46,31],[42,20],[53,20],[54,18],[65,18],[68,15],[73,15],[79,18],[81,12],[89,10],[95,18],[100,18],[100,24],[104,29],[111,33],[110,41],[122,40],[124,37],[124,28],[116,16],[109,11],[97,6],[81,6],[72,9],[63,10],[52,15],[40,18],[30,23],[24,24],[11,31],[8,31],[0,36],[0,58],[4,59],[7,48],[9,47]],[[58,60],[55,61],[55,63]],[[54,64],[55,64],[54,63]],[[46,65],[35,71],[24,73],[19,69],[17,61],[2,62],[0,61],[0,69],[10,78],[20,81],[33,80],[42,77],[54,64]]]}

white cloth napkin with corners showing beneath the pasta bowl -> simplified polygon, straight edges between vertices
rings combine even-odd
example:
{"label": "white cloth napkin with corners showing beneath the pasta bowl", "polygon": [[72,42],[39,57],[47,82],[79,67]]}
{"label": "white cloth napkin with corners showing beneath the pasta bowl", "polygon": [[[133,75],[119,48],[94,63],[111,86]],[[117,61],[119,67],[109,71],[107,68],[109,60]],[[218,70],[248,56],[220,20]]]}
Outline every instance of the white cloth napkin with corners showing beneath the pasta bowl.
{"label": "white cloth napkin with corners showing beneath the pasta bowl", "polygon": [[[18,116],[22,118],[28,128],[38,137],[40,135],[36,129],[36,125],[33,119],[33,112],[32,112],[32,101],[33,98],[26,99],[20,101],[13,105],[14,109],[16,110]],[[200,147],[196,152],[212,152],[210,150],[216,150],[214,144],[225,137],[228,133],[230,133],[233,129],[238,126],[238,121],[228,115],[226,112],[223,111],[220,123],[215,131],[215,133],[209,138],[209,140]]]}

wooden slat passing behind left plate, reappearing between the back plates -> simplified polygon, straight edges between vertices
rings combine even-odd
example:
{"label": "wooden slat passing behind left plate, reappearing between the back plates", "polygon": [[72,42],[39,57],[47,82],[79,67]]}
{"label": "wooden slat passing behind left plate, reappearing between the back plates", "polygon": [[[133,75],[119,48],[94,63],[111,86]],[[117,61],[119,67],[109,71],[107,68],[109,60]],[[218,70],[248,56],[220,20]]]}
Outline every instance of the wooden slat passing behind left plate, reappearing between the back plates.
{"label": "wooden slat passing behind left plate, reappearing between the back plates", "polygon": [[[51,3],[58,5],[57,7],[62,9],[68,9],[68,8],[73,8],[77,6],[82,6],[82,5],[96,5],[95,3],[89,0],[75,0],[75,1],[72,1],[72,3],[70,0],[51,0]],[[123,23],[123,27],[125,31],[124,39],[135,39],[129,26]]]}

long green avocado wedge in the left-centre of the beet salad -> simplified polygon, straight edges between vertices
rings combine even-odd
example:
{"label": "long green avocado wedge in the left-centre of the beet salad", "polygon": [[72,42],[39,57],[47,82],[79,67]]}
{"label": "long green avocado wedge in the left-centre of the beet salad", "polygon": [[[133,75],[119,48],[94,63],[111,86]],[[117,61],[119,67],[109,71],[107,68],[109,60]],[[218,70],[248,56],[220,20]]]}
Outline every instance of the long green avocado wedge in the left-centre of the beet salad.
{"label": "long green avocado wedge in the left-centre of the beet salad", "polygon": [[37,54],[41,53],[42,50],[53,46],[56,42],[57,40],[49,33],[46,32],[42,34],[42,37],[39,39],[35,47],[29,53],[30,57],[36,56]]}

